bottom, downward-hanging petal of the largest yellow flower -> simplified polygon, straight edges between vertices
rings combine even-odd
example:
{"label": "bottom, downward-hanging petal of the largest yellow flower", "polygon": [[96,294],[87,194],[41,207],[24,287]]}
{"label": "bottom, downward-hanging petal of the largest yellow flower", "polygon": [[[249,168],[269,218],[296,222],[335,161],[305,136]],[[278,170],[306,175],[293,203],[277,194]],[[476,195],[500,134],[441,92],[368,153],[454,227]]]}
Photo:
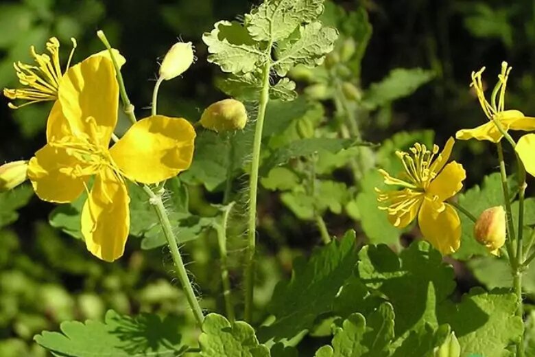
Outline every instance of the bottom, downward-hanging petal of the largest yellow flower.
{"label": "bottom, downward-hanging petal of the largest yellow flower", "polygon": [[126,185],[109,168],[95,176],[82,209],[82,235],[88,251],[106,262],[124,252],[130,229],[130,198]]}

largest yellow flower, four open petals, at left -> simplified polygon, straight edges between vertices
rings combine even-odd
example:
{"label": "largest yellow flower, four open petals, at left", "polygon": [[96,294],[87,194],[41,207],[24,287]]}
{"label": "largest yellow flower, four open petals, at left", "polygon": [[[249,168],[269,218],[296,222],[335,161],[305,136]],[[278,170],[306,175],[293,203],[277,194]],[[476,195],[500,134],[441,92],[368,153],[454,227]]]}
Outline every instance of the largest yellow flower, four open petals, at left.
{"label": "largest yellow flower, four open petals, at left", "polygon": [[82,235],[87,249],[108,262],[121,257],[128,238],[125,179],[158,183],[186,170],[195,138],[187,120],[154,115],[136,122],[109,148],[118,105],[119,87],[109,58],[93,56],[71,67],[48,118],[48,143],[28,168],[43,200],[68,203],[88,192]]}

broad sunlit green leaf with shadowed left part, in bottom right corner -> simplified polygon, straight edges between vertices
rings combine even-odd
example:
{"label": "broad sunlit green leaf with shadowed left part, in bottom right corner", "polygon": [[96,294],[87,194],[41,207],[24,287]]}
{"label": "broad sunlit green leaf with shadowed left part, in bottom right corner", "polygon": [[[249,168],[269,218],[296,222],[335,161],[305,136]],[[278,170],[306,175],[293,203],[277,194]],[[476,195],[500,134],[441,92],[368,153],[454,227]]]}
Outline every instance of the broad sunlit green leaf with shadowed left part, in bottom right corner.
{"label": "broad sunlit green leaf with shadowed left part, in bottom right corner", "polygon": [[447,321],[461,345],[461,355],[482,354],[501,357],[510,343],[516,343],[524,326],[515,316],[516,295],[506,290],[486,292],[473,288],[464,295],[458,306],[442,309],[442,320]]}

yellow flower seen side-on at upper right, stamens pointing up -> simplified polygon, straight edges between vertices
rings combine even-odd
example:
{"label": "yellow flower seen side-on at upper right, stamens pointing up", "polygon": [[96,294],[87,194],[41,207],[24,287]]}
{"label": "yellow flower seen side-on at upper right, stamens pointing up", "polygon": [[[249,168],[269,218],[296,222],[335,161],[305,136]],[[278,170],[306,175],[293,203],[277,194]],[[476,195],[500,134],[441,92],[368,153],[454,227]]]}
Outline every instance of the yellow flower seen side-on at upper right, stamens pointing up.
{"label": "yellow flower seen side-on at upper right, stamens pointing up", "polygon": [[511,67],[508,67],[507,62],[501,63],[501,73],[498,76],[498,83],[492,91],[492,97],[490,98],[490,103],[485,99],[483,93],[483,83],[481,75],[485,67],[479,70],[477,73],[472,72],[472,84],[471,87],[474,87],[477,98],[479,99],[479,104],[489,119],[489,122],[477,126],[473,129],[462,129],[457,131],[455,137],[461,140],[468,139],[477,139],[477,140],[488,140],[493,143],[497,143],[501,140],[503,135],[499,132],[496,124],[492,122],[494,117],[504,130],[535,130],[535,118],[534,117],[525,117],[521,111],[516,110],[505,110],[506,102],[506,87],[507,80],[509,77],[509,72]]}

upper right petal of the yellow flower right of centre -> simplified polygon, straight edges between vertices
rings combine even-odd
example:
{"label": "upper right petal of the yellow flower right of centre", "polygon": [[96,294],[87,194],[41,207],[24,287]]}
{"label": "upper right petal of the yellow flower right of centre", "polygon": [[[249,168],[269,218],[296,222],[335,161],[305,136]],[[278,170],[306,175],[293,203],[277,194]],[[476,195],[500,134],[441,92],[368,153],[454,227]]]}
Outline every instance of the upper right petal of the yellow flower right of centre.
{"label": "upper right petal of the yellow flower right of centre", "polygon": [[464,179],[466,179],[466,171],[460,163],[452,161],[429,183],[426,192],[431,196],[436,196],[442,202],[462,189]]}

